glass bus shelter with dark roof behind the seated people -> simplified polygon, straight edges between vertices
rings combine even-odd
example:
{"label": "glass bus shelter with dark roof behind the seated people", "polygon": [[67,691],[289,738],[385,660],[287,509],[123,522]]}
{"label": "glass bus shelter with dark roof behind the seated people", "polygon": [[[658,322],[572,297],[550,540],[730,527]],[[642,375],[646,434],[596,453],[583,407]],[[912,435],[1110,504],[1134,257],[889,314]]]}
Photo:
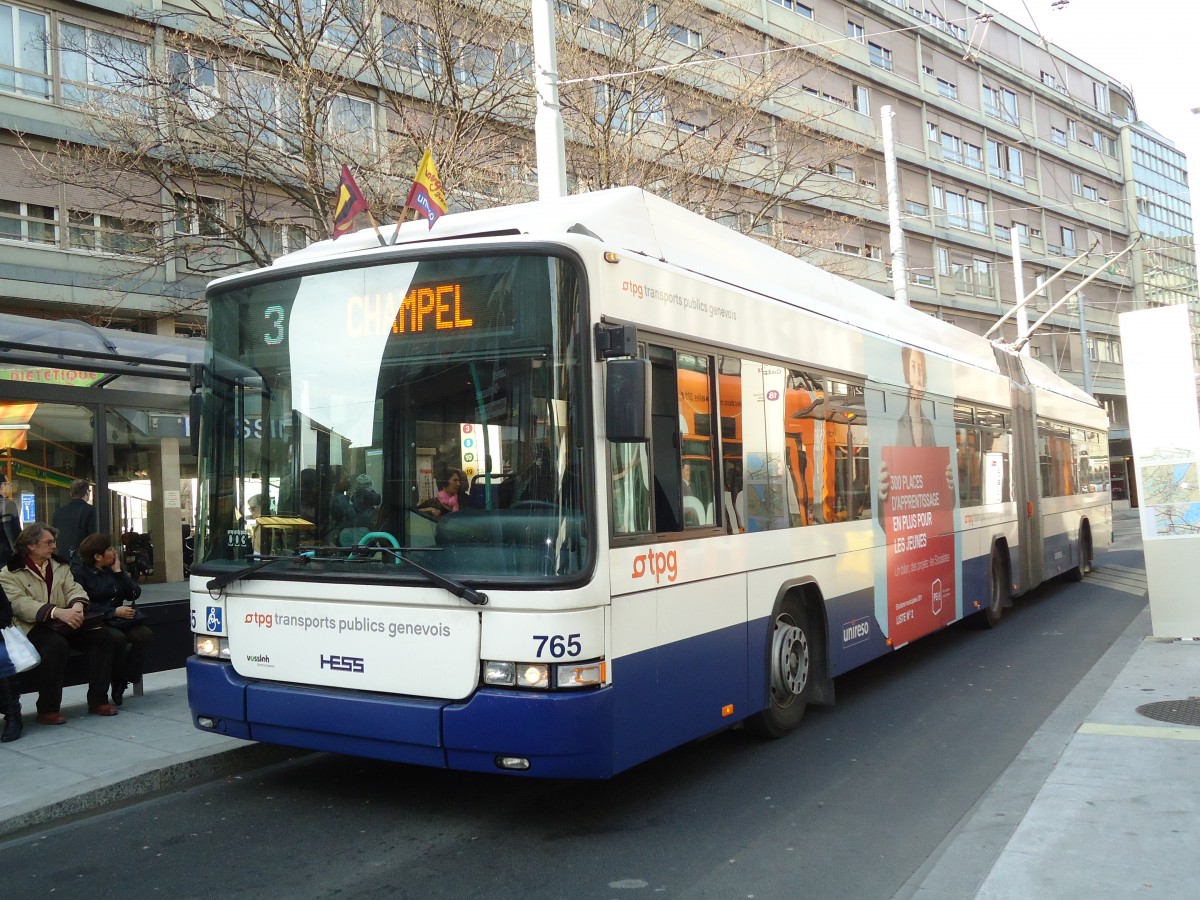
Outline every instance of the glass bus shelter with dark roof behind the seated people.
{"label": "glass bus shelter with dark roof behind the seated people", "polygon": [[194,521],[190,366],[204,343],[0,313],[0,473],[22,524],[52,523],[76,479],[143,581],[185,576]]}

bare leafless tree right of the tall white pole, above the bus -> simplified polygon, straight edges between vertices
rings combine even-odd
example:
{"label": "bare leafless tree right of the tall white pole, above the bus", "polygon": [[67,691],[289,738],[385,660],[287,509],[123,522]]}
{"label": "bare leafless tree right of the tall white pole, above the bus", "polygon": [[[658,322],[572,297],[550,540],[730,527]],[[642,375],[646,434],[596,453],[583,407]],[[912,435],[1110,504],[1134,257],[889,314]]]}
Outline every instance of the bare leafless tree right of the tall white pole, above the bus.
{"label": "bare leafless tree right of the tall white pole, above the bus", "polygon": [[[838,208],[864,192],[839,173],[863,148],[829,121],[845,101],[812,86],[829,76],[824,61],[697,0],[564,0],[558,11],[580,190],[642,185],[793,253],[857,221]],[[806,215],[787,212],[800,204]]]}

